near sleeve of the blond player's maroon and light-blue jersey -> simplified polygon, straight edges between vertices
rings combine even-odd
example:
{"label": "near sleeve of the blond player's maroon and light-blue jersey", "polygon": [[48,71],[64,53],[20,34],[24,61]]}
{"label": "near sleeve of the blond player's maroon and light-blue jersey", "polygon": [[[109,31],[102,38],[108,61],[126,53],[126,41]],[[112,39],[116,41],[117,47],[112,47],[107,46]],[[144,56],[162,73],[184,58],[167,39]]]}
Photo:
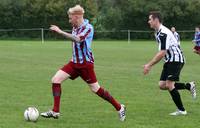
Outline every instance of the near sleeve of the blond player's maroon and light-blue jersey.
{"label": "near sleeve of the blond player's maroon and light-blue jersey", "polygon": [[85,41],[88,36],[91,36],[93,34],[93,28],[92,27],[86,27],[78,36],[81,40],[81,42]]}

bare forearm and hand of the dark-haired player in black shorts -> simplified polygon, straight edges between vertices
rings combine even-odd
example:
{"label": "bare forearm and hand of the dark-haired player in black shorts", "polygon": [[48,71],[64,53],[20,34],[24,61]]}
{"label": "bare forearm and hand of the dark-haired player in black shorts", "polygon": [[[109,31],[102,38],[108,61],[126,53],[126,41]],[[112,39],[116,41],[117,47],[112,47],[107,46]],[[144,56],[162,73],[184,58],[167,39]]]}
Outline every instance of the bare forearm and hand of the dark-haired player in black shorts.
{"label": "bare forearm and hand of the dark-haired player in black shorts", "polygon": [[166,54],[166,50],[159,51],[147,64],[144,65],[143,73],[144,75],[148,74],[151,70],[151,67],[157,64]]}

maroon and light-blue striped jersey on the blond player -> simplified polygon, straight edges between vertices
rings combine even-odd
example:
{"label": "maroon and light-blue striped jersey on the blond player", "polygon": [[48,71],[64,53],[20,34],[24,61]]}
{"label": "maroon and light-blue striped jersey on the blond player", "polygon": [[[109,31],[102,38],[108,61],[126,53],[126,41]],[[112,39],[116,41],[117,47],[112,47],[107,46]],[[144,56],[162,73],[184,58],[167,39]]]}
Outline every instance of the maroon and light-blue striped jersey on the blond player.
{"label": "maroon and light-blue striped jersey on the blond player", "polygon": [[72,42],[72,62],[74,63],[84,63],[91,62],[94,63],[94,58],[92,55],[91,44],[94,35],[94,29],[87,19],[81,26],[72,29],[72,35],[79,36],[80,42]]}

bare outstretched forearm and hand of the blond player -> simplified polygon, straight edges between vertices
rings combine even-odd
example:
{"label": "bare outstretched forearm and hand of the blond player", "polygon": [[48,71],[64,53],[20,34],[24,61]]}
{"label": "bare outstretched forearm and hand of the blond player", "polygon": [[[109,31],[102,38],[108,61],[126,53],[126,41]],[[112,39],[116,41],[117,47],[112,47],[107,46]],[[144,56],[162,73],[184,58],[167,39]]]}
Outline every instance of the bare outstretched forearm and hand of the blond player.
{"label": "bare outstretched forearm and hand of the blond player", "polygon": [[72,35],[71,33],[65,32],[56,25],[51,25],[51,27],[49,29],[57,32],[58,34],[63,35],[64,37],[66,37],[72,41],[81,42],[81,38],[79,36],[75,36],[75,35]]}

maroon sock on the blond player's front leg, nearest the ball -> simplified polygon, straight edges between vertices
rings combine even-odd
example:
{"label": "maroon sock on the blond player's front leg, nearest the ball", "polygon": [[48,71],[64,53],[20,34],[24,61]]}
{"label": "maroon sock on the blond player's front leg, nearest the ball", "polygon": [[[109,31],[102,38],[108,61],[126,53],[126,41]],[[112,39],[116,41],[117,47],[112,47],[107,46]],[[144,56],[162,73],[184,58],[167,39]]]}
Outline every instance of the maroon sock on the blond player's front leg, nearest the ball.
{"label": "maroon sock on the blond player's front leg, nearest the ball", "polygon": [[52,93],[54,96],[54,106],[53,111],[60,111],[60,96],[61,96],[61,84],[52,83]]}

